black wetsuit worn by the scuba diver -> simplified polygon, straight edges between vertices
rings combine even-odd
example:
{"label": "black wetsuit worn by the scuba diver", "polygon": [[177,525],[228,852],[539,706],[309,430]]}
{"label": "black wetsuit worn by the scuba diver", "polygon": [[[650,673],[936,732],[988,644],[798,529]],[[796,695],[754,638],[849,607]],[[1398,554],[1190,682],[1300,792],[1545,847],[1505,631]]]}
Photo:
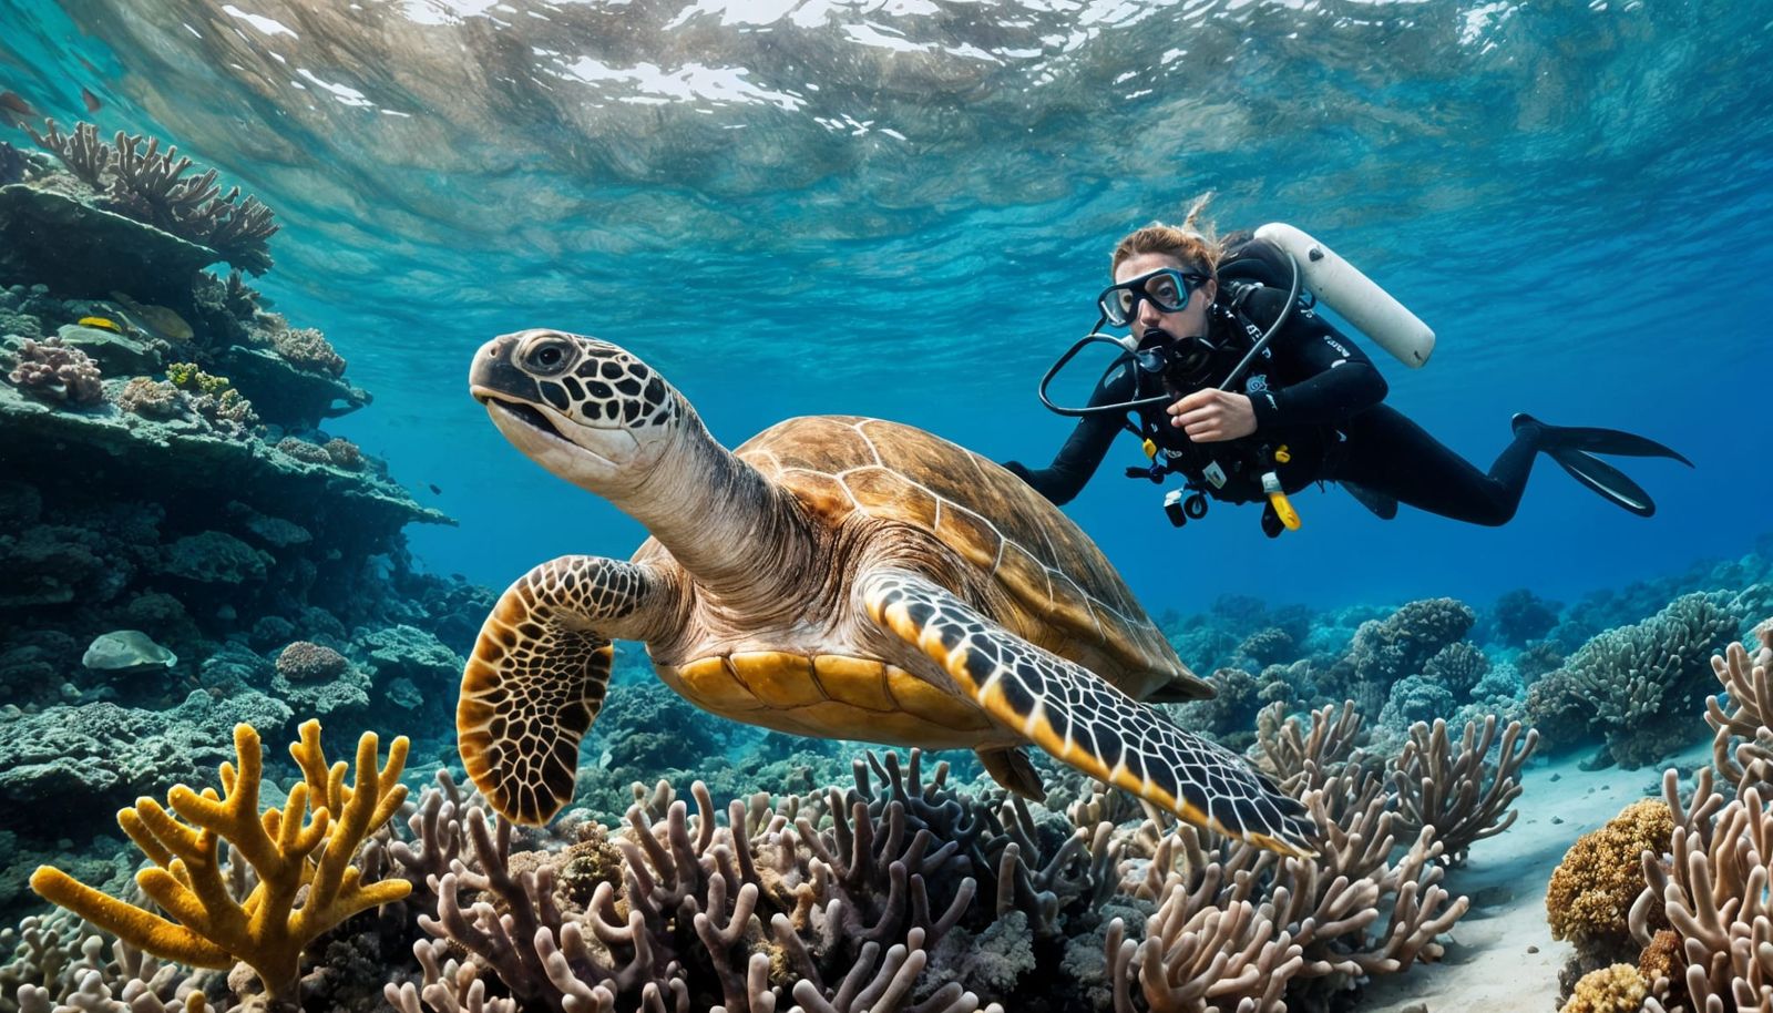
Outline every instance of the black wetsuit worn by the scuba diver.
{"label": "black wetsuit worn by the scuba diver", "polygon": [[[1211,383],[1223,380],[1250,349],[1246,323],[1266,330],[1285,298],[1282,291],[1255,287],[1232,312],[1222,294],[1209,318],[1209,334],[1220,346],[1206,373]],[[1305,307],[1293,312],[1234,389],[1248,394],[1255,410],[1255,433],[1239,440],[1193,444],[1170,426],[1167,404],[1136,413],[1140,431],[1158,444],[1160,458],[1222,500],[1262,500],[1261,475],[1271,470],[1289,493],[1317,481],[1351,486],[1349,491],[1381,516],[1390,516],[1386,507],[1402,502],[1454,520],[1500,525],[1514,516],[1539,451],[1537,433],[1523,429],[1488,475],[1479,472],[1402,413],[1381,404],[1386,385],[1372,360]],[[1122,357],[1103,374],[1090,404],[1163,392],[1163,381]],[[1188,390],[1172,387],[1170,392]],[[1064,504],[1096,474],[1108,445],[1124,429],[1119,413],[1089,415],[1050,467],[1027,468],[1016,461],[1005,467],[1046,499]],[[1277,459],[1277,451],[1284,461]]]}

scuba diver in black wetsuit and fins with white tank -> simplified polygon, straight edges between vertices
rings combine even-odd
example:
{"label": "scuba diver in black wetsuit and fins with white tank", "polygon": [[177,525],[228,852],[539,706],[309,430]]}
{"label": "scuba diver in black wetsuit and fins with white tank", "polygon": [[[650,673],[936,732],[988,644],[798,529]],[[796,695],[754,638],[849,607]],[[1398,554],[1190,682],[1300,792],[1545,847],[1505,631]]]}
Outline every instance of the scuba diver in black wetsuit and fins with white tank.
{"label": "scuba diver in black wetsuit and fins with white tank", "polygon": [[[1340,484],[1385,520],[1408,504],[1502,525],[1514,516],[1541,452],[1638,516],[1656,513],[1649,493],[1596,454],[1672,458],[1691,467],[1644,436],[1550,426],[1523,413],[1489,472],[1477,470],[1383,404],[1386,385],[1372,360],[1312,307],[1335,309],[1410,365],[1427,360],[1434,334],[1291,225],[1264,225],[1223,241],[1213,238],[1211,225],[1202,234],[1197,222],[1209,199],[1197,199],[1181,227],[1151,224],[1115,245],[1113,284],[1096,300],[1101,319],[1043,378],[1041,401],[1082,420],[1050,467],[1004,467],[1055,504],[1083,488],[1122,429],[1142,440],[1151,459],[1128,468],[1128,477],[1160,484],[1170,474],[1184,479],[1165,499],[1172,523],[1204,516],[1207,497],[1266,500],[1262,530],[1269,538],[1300,525],[1287,497],[1312,483]],[[1099,334],[1103,325],[1129,334]],[[1055,404],[1048,385],[1090,342],[1117,344],[1121,355],[1087,406]]]}

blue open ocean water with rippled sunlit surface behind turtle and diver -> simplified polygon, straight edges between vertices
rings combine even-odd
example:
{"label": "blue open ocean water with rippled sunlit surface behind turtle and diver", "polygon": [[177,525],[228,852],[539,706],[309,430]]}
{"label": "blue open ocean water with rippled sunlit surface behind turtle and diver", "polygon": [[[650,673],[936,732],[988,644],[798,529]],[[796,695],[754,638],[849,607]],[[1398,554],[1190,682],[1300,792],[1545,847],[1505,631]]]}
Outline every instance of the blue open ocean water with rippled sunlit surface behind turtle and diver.
{"label": "blue open ocean water with rippled sunlit surface behind turtle and diver", "polygon": [[1254,507],[1174,530],[1119,477],[1128,438],[1067,513],[1152,612],[1480,603],[1773,527],[1769,28],[1759,4],[1606,0],[5,0],[0,87],[277,211],[257,284],[374,392],[330,429],[459,520],[411,530],[441,573],[504,585],[644,538],[466,396],[495,334],[624,344],[727,445],[842,412],[1044,463],[1069,424],[1034,387],[1113,240],[1213,190],[1222,229],[1296,224],[1438,330],[1420,371],[1367,348],[1480,467],[1530,410],[1697,470],[1628,461],[1640,520],[1541,461],[1502,529],[1314,490],[1269,541]]}

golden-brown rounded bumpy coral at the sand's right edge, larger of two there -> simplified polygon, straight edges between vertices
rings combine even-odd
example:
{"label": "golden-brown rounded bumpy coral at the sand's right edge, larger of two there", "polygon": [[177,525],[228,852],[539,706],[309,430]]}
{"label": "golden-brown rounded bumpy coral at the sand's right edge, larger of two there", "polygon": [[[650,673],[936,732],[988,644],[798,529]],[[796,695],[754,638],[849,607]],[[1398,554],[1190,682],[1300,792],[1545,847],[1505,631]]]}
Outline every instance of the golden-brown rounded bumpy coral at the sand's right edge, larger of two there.
{"label": "golden-brown rounded bumpy coral at the sand's right edge, larger of two there", "polygon": [[[1626,915],[1644,892],[1644,852],[1668,850],[1674,814],[1661,798],[1633,802],[1592,834],[1576,837],[1546,885],[1551,938],[1576,946],[1578,960],[1610,963],[1633,956]],[[1645,912],[1645,924],[1665,924]]]}

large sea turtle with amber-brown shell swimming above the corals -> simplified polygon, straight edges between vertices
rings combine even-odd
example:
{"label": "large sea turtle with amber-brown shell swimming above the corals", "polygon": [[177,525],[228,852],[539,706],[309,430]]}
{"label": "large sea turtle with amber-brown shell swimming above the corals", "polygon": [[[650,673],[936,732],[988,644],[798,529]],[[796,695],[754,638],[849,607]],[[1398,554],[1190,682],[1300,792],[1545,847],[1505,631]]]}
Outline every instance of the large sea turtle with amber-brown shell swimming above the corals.
{"label": "large sea turtle with amber-brown shell swimming above the corals", "polygon": [[973,749],[1041,798],[1034,743],[1190,823],[1312,853],[1300,802],[1140,703],[1213,690],[1089,536],[1002,467],[844,415],[727,451],[638,357],[557,330],[489,341],[470,390],[519,451],[652,536],[629,561],[543,562],[480,628],[456,731],[507,818],[544,823],[573,798],[610,642],[642,640],[670,688],[734,720]]}

